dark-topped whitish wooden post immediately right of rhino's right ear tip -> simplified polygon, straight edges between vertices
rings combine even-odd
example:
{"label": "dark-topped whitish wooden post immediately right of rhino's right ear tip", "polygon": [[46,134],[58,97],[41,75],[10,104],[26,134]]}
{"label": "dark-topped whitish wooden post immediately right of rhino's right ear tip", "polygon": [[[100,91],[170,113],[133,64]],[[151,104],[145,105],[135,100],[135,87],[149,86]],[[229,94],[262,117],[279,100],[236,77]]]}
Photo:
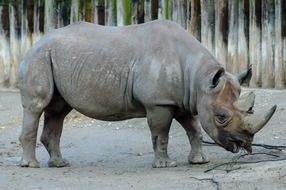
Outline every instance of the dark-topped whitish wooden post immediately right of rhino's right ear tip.
{"label": "dark-topped whitish wooden post immediately right of rhino's right ear tip", "polygon": [[261,3],[249,1],[249,64],[252,65],[251,87],[261,86]]}

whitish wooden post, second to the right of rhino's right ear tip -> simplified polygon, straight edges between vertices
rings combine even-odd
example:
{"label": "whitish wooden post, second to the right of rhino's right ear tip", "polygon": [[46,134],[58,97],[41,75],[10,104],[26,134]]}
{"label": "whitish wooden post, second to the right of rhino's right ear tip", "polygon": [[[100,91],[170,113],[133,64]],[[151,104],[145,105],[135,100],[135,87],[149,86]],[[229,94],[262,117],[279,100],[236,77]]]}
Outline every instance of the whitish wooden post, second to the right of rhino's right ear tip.
{"label": "whitish wooden post, second to the right of rhino's right ear tip", "polygon": [[274,87],[274,0],[262,3],[262,87]]}

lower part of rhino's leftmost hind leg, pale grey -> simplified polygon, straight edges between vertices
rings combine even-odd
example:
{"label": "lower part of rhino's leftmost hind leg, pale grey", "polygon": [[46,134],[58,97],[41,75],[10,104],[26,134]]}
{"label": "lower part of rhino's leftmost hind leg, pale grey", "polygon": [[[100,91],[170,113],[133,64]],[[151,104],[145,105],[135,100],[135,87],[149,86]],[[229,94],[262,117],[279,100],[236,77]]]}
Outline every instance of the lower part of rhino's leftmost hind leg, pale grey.
{"label": "lower part of rhino's leftmost hind leg, pale grey", "polygon": [[24,108],[22,132],[19,137],[23,148],[22,160],[20,162],[22,167],[40,167],[35,153],[40,116],[41,113],[34,113],[28,108]]}

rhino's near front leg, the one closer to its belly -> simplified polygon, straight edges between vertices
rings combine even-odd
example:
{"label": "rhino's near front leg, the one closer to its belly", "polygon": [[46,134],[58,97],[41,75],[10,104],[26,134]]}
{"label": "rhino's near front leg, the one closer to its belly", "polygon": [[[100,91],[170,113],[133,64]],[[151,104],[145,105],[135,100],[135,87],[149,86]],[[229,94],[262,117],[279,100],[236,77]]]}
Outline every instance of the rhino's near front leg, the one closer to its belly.
{"label": "rhino's near front leg, the one closer to its belly", "polygon": [[167,107],[155,107],[147,110],[147,121],[151,130],[155,158],[154,168],[175,167],[177,163],[171,160],[167,153],[169,131],[173,111]]}

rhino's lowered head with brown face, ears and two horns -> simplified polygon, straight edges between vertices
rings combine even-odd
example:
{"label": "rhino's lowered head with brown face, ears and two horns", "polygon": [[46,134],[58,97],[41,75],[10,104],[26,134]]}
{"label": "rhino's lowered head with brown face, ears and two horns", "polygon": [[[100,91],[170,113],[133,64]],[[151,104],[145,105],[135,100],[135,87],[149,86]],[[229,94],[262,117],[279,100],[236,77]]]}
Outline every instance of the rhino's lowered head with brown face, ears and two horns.
{"label": "rhino's lowered head with brown face, ears and two horns", "polygon": [[245,73],[236,77],[218,68],[211,74],[208,72],[208,75],[197,101],[203,129],[226,150],[236,153],[244,148],[251,153],[254,134],[269,121],[276,105],[268,111],[253,112],[254,93],[240,96],[240,84],[249,80],[249,75]]}

